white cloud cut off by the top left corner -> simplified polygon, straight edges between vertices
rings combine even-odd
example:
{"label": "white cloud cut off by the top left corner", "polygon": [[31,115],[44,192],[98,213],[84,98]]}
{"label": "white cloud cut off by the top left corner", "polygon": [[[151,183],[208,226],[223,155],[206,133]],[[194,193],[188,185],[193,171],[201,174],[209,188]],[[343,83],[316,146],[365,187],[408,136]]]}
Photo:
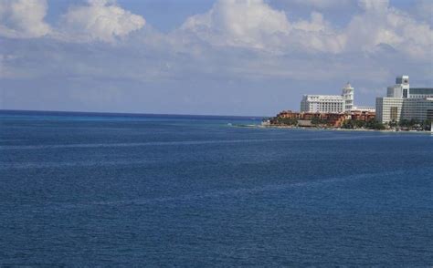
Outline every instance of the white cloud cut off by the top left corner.
{"label": "white cloud cut off by the top left corner", "polygon": [[44,17],[46,0],[0,1],[0,36],[9,38],[33,38],[46,36],[51,31]]}

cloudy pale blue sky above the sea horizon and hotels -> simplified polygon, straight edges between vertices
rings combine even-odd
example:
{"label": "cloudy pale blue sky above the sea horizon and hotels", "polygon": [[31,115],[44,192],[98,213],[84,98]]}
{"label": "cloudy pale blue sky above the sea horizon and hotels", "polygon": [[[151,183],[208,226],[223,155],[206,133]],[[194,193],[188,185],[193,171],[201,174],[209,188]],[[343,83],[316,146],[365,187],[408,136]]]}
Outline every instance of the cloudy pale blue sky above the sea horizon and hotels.
{"label": "cloudy pale blue sky above the sea horizon and hotels", "polygon": [[0,0],[0,109],[272,116],[433,87],[429,0]]}

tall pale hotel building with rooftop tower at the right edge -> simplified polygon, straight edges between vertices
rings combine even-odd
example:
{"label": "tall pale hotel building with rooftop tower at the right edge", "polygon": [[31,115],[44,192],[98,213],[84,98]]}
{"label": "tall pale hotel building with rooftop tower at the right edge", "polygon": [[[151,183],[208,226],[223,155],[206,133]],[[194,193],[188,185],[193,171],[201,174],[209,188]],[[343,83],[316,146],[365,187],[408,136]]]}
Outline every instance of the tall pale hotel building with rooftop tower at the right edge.
{"label": "tall pale hotel building with rooftop tower at the right edge", "polygon": [[409,77],[396,77],[386,97],[375,99],[376,119],[381,123],[401,119],[433,120],[433,88],[410,88]]}

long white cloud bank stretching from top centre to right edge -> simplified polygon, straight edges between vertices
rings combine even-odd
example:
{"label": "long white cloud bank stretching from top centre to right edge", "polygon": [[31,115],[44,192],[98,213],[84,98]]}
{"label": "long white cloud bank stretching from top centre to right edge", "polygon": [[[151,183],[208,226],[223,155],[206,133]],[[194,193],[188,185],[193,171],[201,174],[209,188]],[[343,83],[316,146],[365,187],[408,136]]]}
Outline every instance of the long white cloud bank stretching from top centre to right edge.
{"label": "long white cloud bank stretching from top centre to right edge", "polygon": [[[320,6],[308,0],[305,5]],[[343,0],[327,2],[345,3]],[[206,13],[189,17],[181,29],[213,46],[241,46],[271,52],[375,52],[388,46],[409,57],[431,58],[432,31],[387,0],[359,0],[362,12],[343,27],[321,13],[289,20],[263,0],[218,0]],[[322,6],[323,7],[323,6]]]}

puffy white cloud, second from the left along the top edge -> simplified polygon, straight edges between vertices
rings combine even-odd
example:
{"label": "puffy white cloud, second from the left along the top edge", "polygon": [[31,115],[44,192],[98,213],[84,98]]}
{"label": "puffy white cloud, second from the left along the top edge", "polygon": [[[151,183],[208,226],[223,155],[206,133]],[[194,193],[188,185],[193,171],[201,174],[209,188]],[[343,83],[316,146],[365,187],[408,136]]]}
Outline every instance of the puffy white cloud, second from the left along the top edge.
{"label": "puffy white cloud, second from the left along the top edge", "polygon": [[63,15],[61,36],[70,41],[111,42],[144,25],[141,15],[122,9],[114,1],[89,0],[88,5],[72,6]]}

